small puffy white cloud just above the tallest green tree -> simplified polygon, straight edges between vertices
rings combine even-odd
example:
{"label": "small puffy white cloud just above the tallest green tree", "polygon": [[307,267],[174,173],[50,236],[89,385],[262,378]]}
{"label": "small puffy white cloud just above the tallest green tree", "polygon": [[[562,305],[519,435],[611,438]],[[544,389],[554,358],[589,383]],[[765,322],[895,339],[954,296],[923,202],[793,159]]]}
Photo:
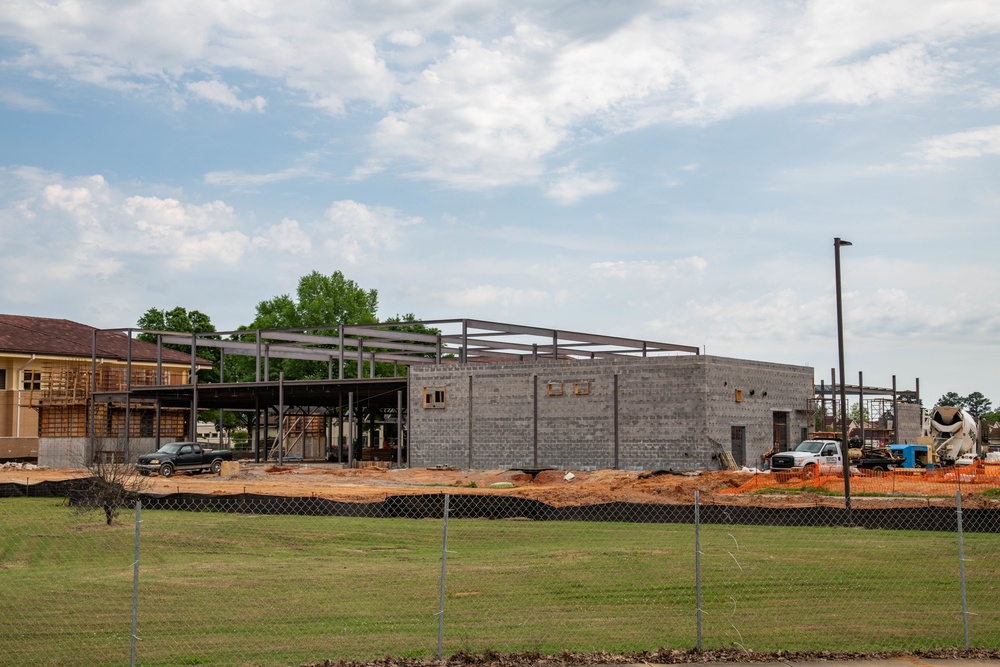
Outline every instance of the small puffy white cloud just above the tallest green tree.
{"label": "small puffy white cloud just above the tallest green tree", "polygon": [[403,228],[422,222],[418,217],[404,217],[393,208],[369,207],[350,199],[333,202],[326,219],[335,238],[325,242],[325,249],[351,264],[375,256],[382,249],[396,248]]}

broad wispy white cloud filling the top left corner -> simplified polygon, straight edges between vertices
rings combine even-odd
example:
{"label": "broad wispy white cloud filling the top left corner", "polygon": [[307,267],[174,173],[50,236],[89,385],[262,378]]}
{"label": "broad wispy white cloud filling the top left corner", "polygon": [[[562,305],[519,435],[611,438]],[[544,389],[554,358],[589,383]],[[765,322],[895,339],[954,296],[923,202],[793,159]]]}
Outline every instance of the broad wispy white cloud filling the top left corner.
{"label": "broad wispy white cloud filling the top left corner", "polygon": [[[246,72],[339,112],[348,100],[382,103],[391,88],[373,43],[378,21],[366,25],[358,14],[346,5],[267,0],[9,2],[0,6],[0,34],[28,45],[16,60],[28,71],[168,96],[181,85],[225,108],[260,111],[263,97],[241,100],[238,89],[221,80],[230,71]],[[185,82],[205,72],[210,80]]]}

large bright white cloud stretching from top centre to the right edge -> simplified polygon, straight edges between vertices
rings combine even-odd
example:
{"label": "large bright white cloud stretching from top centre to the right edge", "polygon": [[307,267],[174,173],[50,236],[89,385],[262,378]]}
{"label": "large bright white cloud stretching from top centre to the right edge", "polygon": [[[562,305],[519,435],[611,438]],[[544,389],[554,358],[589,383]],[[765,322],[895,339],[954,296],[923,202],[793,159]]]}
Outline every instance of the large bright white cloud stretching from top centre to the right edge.
{"label": "large bright white cloud stretching from top centre to the right edge", "polygon": [[[491,41],[455,37],[401,89],[407,107],[379,124],[380,153],[424,178],[493,187],[537,180],[584,127],[606,133],[926,94],[956,75],[943,46],[995,31],[1000,9],[714,3],[636,15],[584,39],[537,18],[529,12]],[[567,199],[574,196],[569,188]]]}

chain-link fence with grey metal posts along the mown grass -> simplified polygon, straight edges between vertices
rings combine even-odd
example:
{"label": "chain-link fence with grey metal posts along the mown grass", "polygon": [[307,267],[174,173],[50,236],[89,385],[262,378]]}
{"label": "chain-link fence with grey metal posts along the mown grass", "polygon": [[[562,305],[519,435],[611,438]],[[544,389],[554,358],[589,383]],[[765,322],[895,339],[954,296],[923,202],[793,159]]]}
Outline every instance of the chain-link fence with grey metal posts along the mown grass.
{"label": "chain-link fence with grey metal posts along the mown grass", "polygon": [[108,525],[51,491],[0,499],[7,664],[1000,648],[1000,509],[958,494],[850,511],[144,495]]}

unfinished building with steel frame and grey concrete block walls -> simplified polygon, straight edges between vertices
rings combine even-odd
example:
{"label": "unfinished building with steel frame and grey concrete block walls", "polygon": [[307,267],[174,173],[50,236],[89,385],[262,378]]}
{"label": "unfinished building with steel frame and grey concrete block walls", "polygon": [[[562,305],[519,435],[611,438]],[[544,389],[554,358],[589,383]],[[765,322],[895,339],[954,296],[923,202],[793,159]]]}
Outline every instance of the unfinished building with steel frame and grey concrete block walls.
{"label": "unfinished building with steel frame and grey concrete block walls", "polygon": [[[830,425],[812,368],[690,345],[467,319],[90,331],[89,359],[17,399],[37,413],[45,465],[73,465],[101,441],[142,452],[194,440],[205,410],[239,415],[255,460],[462,468],[752,466]],[[139,333],[157,342],[140,346]],[[295,364],[310,379],[286,379]],[[199,382],[209,366],[217,377]],[[892,396],[892,415],[909,394]]]}

